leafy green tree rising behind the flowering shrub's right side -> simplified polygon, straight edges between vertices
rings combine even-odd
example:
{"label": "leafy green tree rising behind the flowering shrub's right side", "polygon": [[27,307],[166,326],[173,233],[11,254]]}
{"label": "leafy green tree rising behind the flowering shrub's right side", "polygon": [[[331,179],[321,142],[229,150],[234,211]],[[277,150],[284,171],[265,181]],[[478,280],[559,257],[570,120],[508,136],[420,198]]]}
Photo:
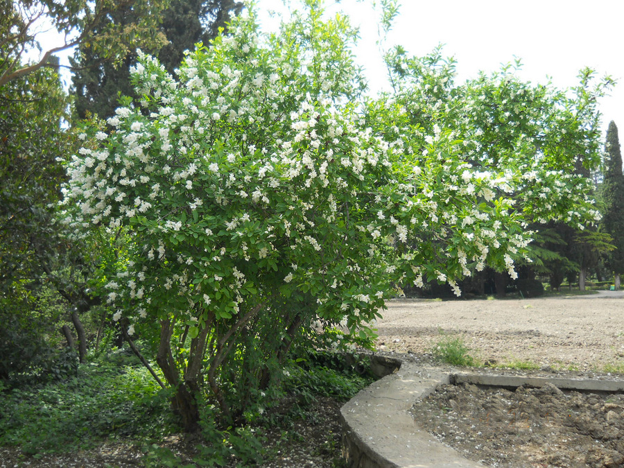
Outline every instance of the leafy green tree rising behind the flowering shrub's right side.
{"label": "leafy green tree rising behind the flowering shrub's right side", "polygon": [[[612,78],[596,80],[591,69],[584,69],[577,87],[562,90],[550,83],[523,82],[514,73],[521,66],[516,62],[456,85],[455,62],[444,59],[440,49],[415,58],[397,47],[386,60],[395,87],[389,103],[403,107],[401,119],[410,119],[414,131],[447,128],[465,142],[467,167],[492,177],[519,177],[517,191],[506,191],[505,196],[517,200],[528,229],[548,229],[547,224],[555,221],[585,229],[596,222],[595,207],[593,220],[581,221],[575,210],[564,208],[562,198],[571,196],[574,203],[586,207],[593,204],[589,170],[600,164],[596,102],[613,85]],[[556,184],[555,179],[559,180]],[[535,238],[539,239],[539,233]],[[543,263],[538,255],[557,257],[555,252],[546,252],[545,246],[536,244],[535,263]],[[569,261],[560,264],[569,265]],[[485,276],[482,279],[487,281]],[[494,272],[497,294],[504,295],[506,280],[504,274]]]}

